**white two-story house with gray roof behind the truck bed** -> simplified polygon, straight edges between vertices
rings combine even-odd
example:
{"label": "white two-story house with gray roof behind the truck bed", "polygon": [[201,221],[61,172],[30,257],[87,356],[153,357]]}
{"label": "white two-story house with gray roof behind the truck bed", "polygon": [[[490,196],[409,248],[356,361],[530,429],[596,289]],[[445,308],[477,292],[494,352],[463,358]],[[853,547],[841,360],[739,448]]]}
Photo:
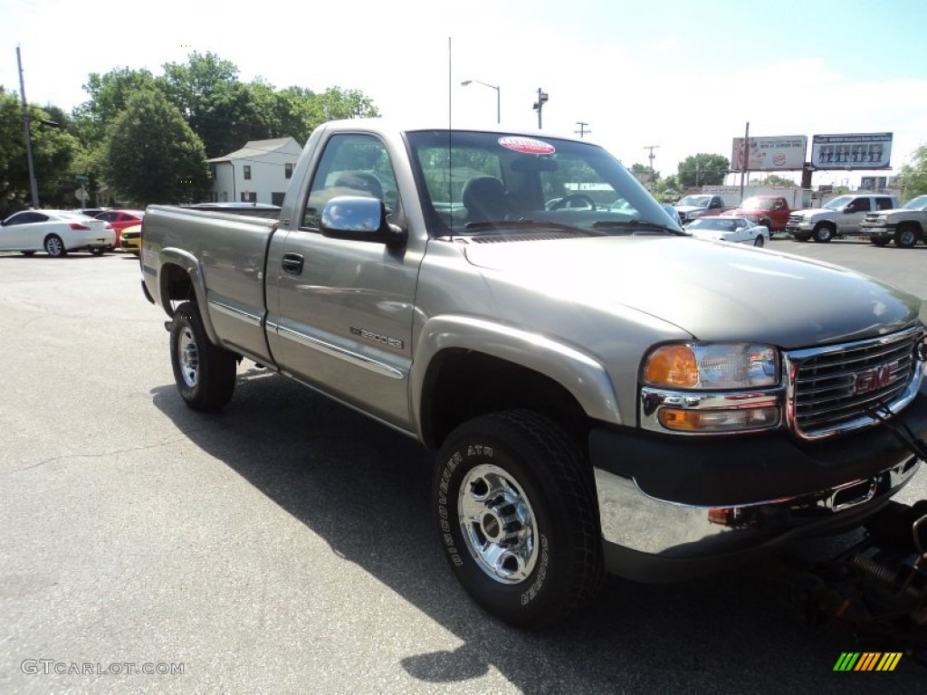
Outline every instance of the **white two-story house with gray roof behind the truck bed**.
{"label": "white two-story house with gray roof behind the truck bed", "polygon": [[291,137],[251,140],[224,157],[210,159],[213,202],[283,205],[302,147]]}

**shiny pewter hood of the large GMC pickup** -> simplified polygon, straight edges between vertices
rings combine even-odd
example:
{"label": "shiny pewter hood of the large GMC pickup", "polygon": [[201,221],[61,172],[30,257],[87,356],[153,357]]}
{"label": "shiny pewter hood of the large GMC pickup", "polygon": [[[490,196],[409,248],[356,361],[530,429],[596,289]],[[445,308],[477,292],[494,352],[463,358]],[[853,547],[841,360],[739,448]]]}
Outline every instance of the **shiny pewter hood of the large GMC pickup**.
{"label": "shiny pewter hood of the large GMC pickup", "polygon": [[465,255],[500,301],[524,288],[578,307],[621,305],[700,340],[814,347],[893,332],[921,306],[838,266],[692,237],[474,243]]}

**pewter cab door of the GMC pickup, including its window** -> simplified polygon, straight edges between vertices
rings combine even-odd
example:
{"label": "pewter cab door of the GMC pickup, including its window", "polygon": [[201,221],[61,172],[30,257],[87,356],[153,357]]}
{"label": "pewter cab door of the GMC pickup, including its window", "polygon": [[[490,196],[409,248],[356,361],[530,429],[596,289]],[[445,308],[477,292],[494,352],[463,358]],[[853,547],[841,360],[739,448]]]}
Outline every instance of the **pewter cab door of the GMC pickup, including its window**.
{"label": "pewter cab door of the GMC pickup, including its window", "polygon": [[389,219],[401,206],[379,138],[342,133],[324,147],[305,205],[294,212],[298,229],[282,236],[282,247],[274,248],[268,261],[274,359],[286,373],[404,427],[410,422],[420,255],[321,234],[322,209],[332,197],[379,198]]}

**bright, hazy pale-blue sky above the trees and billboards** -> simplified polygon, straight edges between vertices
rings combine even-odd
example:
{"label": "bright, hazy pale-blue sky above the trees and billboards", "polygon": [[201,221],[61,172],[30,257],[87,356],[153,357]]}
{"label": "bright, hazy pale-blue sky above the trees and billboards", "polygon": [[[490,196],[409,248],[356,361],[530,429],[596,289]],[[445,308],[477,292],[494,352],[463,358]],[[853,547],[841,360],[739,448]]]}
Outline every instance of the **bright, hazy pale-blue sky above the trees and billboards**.
{"label": "bright, hazy pale-blue sky above the trees and billboards", "polygon": [[[653,152],[664,176],[730,158],[747,123],[809,150],[814,134],[889,132],[891,175],[927,145],[925,26],[927,0],[0,0],[0,85],[19,92],[18,45],[28,100],[65,110],[93,72],[212,52],[243,82],[359,90],[416,124],[494,125],[498,95],[503,127],[536,131],[541,89],[544,133],[581,130],[627,166]],[[886,172],[812,184],[866,173]]]}

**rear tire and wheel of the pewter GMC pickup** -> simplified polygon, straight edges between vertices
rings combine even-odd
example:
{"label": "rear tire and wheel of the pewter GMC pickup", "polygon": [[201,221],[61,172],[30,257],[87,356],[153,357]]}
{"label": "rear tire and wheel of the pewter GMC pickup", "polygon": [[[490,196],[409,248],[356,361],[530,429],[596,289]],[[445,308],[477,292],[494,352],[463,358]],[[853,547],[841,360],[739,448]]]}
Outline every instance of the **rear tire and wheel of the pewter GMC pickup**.
{"label": "rear tire and wheel of the pewter GMC pickup", "polygon": [[171,323],[171,367],[184,402],[219,411],[235,393],[235,355],[210,343],[196,302],[184,302]]}

